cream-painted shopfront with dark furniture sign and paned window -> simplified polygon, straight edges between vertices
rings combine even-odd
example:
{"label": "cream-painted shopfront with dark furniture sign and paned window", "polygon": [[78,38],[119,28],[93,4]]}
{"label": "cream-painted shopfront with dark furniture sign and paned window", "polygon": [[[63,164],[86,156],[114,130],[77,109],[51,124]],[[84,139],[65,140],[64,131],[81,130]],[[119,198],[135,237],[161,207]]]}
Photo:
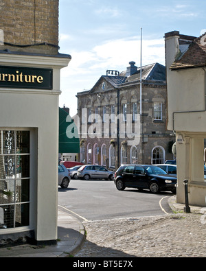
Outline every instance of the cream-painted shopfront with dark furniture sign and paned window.
{"label": "cream-painted shopfront with dark furniture sign and paned window", "polygon": [[60,69],[70,60],[0,51],[0,244],[56,242]]}

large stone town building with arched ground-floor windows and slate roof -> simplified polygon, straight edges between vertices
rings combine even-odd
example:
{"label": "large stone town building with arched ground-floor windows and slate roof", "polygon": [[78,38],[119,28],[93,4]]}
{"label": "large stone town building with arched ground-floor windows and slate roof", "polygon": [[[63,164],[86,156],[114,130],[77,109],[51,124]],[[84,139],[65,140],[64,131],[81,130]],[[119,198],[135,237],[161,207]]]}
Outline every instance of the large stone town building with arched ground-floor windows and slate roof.
{"label": "large stone town building with arched ground-floor windows and slate roof", "polygon": [[108,70],[90,91],[76,97],[81,162],[115,170],[121,164],[157,164],[173,158],[161,64],[142,67],[141,80],[135,62],[121,73]]}

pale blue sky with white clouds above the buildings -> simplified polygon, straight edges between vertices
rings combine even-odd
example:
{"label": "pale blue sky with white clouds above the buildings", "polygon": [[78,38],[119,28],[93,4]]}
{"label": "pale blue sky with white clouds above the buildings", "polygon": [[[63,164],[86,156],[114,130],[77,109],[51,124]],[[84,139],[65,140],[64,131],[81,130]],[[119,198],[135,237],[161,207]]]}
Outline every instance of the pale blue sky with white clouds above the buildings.
{"label": "pale blue sky with white clouds above the buildings", "polygon": [[[90,90],[106,70],[126,71],[130,61],[165,65],[164,34],[206,32],[205,0],[59,0],[61,70],[59,106],[77,113],[76,94]],[[140,40],[142,29],[142,54]]]}

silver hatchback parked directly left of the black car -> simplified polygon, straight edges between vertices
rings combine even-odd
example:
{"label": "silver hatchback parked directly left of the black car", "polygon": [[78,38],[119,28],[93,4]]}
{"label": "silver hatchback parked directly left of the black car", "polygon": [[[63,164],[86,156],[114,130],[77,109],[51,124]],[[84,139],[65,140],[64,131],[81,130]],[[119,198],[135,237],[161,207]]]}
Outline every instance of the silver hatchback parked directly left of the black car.
{"label": "silver hatchback parked directly left of the black car", "polygon": [[113,172],[100,165],[82,165],[78,169],[78,178],[113,180]]}

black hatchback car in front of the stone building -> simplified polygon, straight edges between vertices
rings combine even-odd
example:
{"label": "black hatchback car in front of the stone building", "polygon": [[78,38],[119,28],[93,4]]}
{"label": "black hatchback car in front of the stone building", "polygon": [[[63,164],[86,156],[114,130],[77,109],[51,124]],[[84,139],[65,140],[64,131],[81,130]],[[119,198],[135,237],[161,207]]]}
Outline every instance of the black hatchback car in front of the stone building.
{"label": "black hatchback car in front of the stone building", "polygon": [[176,193],[176,177],[155,165],[121,165],[115,172],[114,182],[118,190],[133,187],[139,190],[150,189],[152,193]]}

